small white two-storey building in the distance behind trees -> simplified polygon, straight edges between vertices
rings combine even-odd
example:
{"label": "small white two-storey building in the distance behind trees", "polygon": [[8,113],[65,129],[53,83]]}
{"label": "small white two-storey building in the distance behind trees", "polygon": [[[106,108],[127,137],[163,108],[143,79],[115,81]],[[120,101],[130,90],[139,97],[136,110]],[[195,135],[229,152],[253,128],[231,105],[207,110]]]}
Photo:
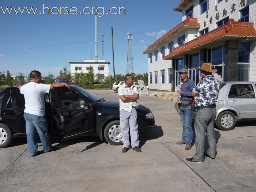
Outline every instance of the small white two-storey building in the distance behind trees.
{"label": "small white two-storey building in the distance behind trees", "polygon": [[105,60],[84,60],[82,62],[69,62],[70,63],[70,72],[71,75],[74,76],[75,73],[88,73],[90,67],[93,68],[93,72],[95,74],[95,78],[97,74],[100,74],[102,79],[109,76],[109,64],[110,62],[106,62]]}

